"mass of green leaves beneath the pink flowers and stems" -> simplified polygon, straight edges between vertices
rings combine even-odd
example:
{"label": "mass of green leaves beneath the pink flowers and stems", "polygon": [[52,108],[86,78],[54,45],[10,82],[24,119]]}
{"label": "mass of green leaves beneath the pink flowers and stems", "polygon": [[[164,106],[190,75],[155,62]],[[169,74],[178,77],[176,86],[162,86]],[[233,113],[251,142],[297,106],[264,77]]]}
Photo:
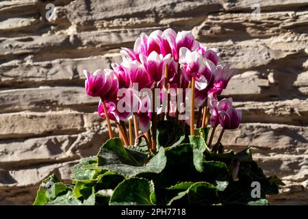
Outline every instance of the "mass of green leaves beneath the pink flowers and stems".
{"label": "mass of green leaves beneath the pink flowers and stems", "polygon": [[[155,155],[125,147],[120,138],[107,140],[97,156],[71,168],[72,185],[55,175],[44,179],[34,205],[268,205],[266,195],[283,185],[264,175],[249,148],[214,153],[205,144],[206,129],[188,136],[171,121],[157,129]],[[251,195],[254,181],[261,185],[259,198]]]}

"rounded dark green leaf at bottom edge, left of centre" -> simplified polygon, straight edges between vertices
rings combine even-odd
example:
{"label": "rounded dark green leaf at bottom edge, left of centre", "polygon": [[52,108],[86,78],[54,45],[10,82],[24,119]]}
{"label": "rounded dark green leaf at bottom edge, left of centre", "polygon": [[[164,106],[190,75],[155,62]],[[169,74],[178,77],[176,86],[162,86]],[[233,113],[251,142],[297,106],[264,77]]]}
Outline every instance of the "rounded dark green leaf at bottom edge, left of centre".
{"label": "rounded dark green leaf at bottom edge, left of centre", "polygon": [[110,205],[153,205],[153,193],[152,181],[142,178],[126,179],[114,190]]}

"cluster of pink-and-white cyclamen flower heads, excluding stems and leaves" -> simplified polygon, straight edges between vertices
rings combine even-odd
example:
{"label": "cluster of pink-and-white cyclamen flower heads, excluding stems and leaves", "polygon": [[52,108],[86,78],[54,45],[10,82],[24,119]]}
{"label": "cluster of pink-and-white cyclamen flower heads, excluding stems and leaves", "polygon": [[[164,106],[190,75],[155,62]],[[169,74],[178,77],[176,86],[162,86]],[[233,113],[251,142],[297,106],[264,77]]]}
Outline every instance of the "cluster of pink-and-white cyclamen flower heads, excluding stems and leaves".
{"label": "cluster of pink-and-white cyclamen flower heads, excluding stems and leaves", "polygon": [[[212,127],[220,124],[224,129],[235,129],[240,124],[241,112],[232,107],[232,99],[217,99],[235,74],[235,69],[218,65],[217,49],[207,49],[194,39],[190,31],[156,30],[149,36],[142,33],[133,49],[122,48],[120,53],[123,62],[113,63],[112,69],[99,69],[94,73],[84,70],[86,93],[101,98],[98,110],[103,118],[103,103],[107,116],[117,122],[127,120],[137,112],[140,130],[144,133],[149,130],[152,114],[151,110],[141,110],[145,97],[134,92],[133,84],[138,84],[138,91],[154,87],[166,89],[166,84],[167,88],[185,89],[191,86],[193,78],[195,107],[209,107]],[[125,96],[117,95],[121,88],[127,89]],[[135,99],[134,104],[125,107],[136,107],[137,111],[119,112],[116,106],[121,99]],[[148,105],[151,105],[149,101]]]}

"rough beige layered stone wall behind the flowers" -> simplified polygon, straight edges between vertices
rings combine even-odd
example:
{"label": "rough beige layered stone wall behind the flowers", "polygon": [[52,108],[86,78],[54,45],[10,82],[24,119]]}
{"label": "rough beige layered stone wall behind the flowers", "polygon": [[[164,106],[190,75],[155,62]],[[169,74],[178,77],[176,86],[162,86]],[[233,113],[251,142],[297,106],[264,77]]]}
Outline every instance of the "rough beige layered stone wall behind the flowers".
{"label": "rough beige layered stone wall behind the flowers", "polygon": [[307,0],[1,1],[0,204],[33,203],[44,177],[68,181],[70,166],[97,153],[108,135],[82,70],[109,67],[141,32],[167,27],[192,30],[238,68],[223,95],[243,110],[242,125],[223,144],[250,145],[283,179],[272,204],[308,204]]}

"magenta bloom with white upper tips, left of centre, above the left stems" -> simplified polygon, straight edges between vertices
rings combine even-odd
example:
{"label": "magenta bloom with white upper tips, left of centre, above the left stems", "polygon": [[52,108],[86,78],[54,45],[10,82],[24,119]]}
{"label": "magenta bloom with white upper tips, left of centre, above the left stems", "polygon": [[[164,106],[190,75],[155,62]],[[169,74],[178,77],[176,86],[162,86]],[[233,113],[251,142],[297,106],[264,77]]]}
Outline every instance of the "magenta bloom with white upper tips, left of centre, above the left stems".
{"label": "magenta bloom with white upper tips, left of centre, above the left stems", "polygon": [[141,90],[142,88],[151,88],[153,84],[151,78],[148,73],[146,73],[144,66],[140,62],[136,60],[132,62],[123,62],[123,67],[131,79],[131,84],[138,84],[138,90]]}

